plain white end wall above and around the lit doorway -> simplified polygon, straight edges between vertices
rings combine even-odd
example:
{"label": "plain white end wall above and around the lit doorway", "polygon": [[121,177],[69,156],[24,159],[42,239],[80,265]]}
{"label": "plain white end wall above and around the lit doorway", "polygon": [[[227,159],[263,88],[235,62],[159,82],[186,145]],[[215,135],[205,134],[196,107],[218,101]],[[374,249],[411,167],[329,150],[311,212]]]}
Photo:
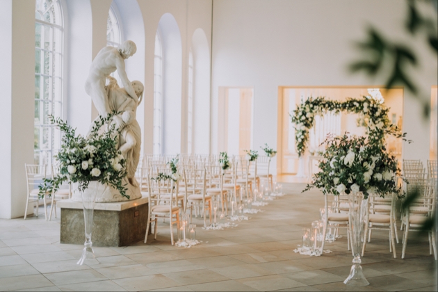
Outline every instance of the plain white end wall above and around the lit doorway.
{"label": "plain white end wall above and around the lit doorway", "polygon": [[[256,149],[264,143],[277,145],[278,86],[382,86],[382,81],[348,72],[347,65],[360,56],[353,42],[364,40],[370,23],[392,40],[403,40],[405,8],[405,1],[398,0],[214,1],[212,152],[218,151],[220,86],[254,87]],[[437,58],[428,48],[416,50],[425,61],[412,72],[430,92],[437,84]],[[403,130],[415,142],[405,145],[403,156],[425,160],[428,124],[407,93],[404,108]]]}

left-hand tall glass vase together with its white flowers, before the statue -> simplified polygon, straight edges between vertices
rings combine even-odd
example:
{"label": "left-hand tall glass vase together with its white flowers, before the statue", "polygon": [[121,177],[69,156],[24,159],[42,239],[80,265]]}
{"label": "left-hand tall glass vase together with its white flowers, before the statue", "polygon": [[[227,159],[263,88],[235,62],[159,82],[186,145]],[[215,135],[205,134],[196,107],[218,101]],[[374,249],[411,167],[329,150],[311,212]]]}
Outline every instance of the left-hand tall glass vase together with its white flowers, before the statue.
{"label": "left-hand tall glass vase together with its white flowers, before the statue", "polygon": [[[108,186],[119,190],[120,195],[127,197],[126,189],[122,186],[122,179],[127,175],[126,161],[117,150],[117,133],[115,125],[110,124],[112,117],[118,113],[111,113],[107,117],[95,120],[87,138],[77,135],[76,130],[67,125],[59,117],[49,115],[51,124],[55,124],[63,133],[61,149],[55,159],[59,163],[58,174],[50,179],[44,179],[40,186],[39,197],[44,193],[56,192],[61,184],[70,181],[78,184],[83,204],[83,218],[85,223],[84,248],[78,265],[86,260],[99,263],[92,249],[92,220],[95,209],[95,200],[98,194],[104,193]],[[103,133],[101,128],[107,128]]]}

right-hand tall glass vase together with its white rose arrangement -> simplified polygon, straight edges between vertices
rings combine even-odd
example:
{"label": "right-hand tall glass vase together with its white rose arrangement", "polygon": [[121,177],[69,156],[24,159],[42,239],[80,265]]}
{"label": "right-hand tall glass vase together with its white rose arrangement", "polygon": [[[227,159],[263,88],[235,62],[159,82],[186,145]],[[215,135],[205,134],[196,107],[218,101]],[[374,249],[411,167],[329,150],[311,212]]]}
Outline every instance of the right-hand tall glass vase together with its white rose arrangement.
{"label": "right-hand tall glass vase together with its white rose arrangement", "polygon": [[350,275],[344,283],[366,286],[369,282],[362,273],[360,252],[368,194],[384,197],[396,193],[401,196],[402,192],[394,178],[400,175],[400,169],[396,157],[388,154],[381,143],[375,143],[372,136],[368,139],[348,137],[346,134],[341,137],[329,136],[325,144],[325,154],[318,165],[321,171],[316,173],[303,192],[316,187],[324,194],[348,195],[354,259]]}

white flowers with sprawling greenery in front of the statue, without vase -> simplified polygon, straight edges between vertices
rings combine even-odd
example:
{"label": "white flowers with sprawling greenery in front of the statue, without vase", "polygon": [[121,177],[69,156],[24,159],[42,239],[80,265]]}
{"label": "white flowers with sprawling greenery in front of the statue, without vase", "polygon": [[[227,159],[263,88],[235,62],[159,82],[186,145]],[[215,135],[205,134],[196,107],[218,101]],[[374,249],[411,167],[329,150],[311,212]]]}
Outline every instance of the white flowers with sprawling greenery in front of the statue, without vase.
{"label": "white flowers with sprawling greenery in front of the statue, without vase", "polygon": [[112,117],[117,114],[113,112],[107,117],[99,116],[88,138],[76,136],[76,129],[72,129],[59,117],[49,115],[50,122],[63,133],[61,149],[55,156],[59,163],[59,172],[51,179],[44,179],[39,197],[44,197],[46,192],[58,190],[65,181],[78,183],[80,191],[86,190],[90,181],[99,181],[101,184],[113,186],[119,190],[120,195],[129,199],[126,188],[122,186],[127,170],[126,161],[117,150],[117,130],[112,124],[104,133],[99,133],[102,126],[111,122]]}

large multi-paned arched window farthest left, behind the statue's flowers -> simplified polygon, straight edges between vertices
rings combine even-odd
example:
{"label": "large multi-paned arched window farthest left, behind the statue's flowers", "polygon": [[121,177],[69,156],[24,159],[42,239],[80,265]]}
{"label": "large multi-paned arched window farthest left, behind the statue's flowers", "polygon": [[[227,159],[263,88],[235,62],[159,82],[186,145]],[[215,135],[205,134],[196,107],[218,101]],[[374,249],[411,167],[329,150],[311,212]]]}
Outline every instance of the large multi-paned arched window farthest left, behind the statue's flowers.
{"label": "large multi-paned arched window farthest left, behind the statue's flowers", "polygon": [[60,149],[60,131],[49,115],[63,117],[63,12],[60,0],[36,0],[35,6],[35,163],[52,163]]}

